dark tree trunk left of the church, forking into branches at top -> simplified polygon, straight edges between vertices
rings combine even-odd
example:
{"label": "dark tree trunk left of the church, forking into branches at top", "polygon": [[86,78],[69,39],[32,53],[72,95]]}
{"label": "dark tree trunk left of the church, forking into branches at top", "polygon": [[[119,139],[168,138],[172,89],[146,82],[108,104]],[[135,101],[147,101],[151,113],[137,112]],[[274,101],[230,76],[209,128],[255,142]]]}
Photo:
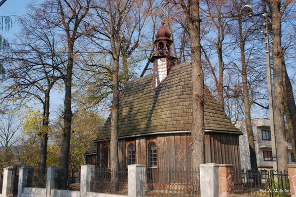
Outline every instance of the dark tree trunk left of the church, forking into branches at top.
{"label": "dark tree trunk left of the church, forking into branches at top", "polygon": [[[62,180],[63,187],[67,187],[68,182],[68,173],[69,173],[69,160],[70,160],[70,139],[71,139],[71,124],[72,124],[72,75],[73,75],[73,65],[74,65],[74,43],[75,40],[81,35],[78,33],[79,25],[84,20],[88,14],[90,8],[91,0],[85,1],[75,1],[74,7],[72,7],[72,2],[63,0],[65,7],[69,8],[65,12],[64,6],[61,0],[57,0],[60,19],[62,23],[62,29],[65,31],[67,44],[68,44],[68,61],[66,67],[66,75],[64,75],[65,82],[65,99],[64,99],[64,127],[63,135],[60,149],[60,159],[59,164],[60,168],[65,170],[65,180]],[[81,3],[84,3],[82,5]],[[66,9],[67,10],[67,9]],[[71,10],[71,11],[70,11]],[[69,15],[67,15],[69,14]],[[79,36],[78,36],[79,35]]]}

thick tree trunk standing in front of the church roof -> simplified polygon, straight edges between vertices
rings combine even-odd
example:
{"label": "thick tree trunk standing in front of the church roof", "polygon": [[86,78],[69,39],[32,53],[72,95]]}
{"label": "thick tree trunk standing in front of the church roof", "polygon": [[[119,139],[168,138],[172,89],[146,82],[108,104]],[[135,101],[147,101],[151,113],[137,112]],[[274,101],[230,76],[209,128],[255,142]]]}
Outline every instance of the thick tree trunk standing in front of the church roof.
{"label": "thick tree trunk standing in front of the church roof", "polygon": [[[201,65],[199,2],[183,7],[189,25],[192,65],[191,166],[205,163],[204,146],[204,73]],[[188,10],[189,9],[189,10]]]}

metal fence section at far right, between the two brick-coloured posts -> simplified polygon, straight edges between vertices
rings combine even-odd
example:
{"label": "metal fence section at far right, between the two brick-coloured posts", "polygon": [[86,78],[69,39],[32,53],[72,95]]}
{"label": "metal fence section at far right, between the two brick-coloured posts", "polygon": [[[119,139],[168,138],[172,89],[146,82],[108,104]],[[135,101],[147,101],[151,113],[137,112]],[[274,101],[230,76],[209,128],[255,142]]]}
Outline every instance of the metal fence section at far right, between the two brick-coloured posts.
{"label": "metal fence section at far right, between the two brick-coloured posts", "polygon": [[232,172],[231,191],[235,194],[289,197],[287,171],[242,170]]}

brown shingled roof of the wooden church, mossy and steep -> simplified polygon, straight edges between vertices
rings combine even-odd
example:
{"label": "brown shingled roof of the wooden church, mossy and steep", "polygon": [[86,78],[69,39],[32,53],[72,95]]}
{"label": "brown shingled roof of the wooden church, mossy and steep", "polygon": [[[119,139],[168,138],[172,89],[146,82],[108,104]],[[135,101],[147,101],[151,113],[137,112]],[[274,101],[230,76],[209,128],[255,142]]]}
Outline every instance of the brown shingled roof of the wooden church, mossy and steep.
{"label": "brown shingled roof of the wooden church, mossy and steep", "polygon": [[[119,102],[119,137],[159,132],[190,131],[192,122],[192,68],[186,62],[173,67],[156,90],[152,74],[125,84]],[[205,131],[241,134],[222,107],[205,89]],[[110,139],[111,116],[95,141]]]}

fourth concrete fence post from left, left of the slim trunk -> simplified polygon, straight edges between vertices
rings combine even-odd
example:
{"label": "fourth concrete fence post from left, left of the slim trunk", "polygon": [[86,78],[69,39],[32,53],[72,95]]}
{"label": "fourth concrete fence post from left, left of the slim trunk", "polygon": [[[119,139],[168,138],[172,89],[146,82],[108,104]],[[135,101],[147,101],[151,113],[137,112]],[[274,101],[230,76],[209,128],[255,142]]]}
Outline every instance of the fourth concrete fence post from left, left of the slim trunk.
{"label": "fourth concrete fence post from left, left of the slim trunk", "polygon": [[81,165],[80,176],[80,197],[86,197],[87,192],[90,192],[91,182],[94,179],[95,165]]}

